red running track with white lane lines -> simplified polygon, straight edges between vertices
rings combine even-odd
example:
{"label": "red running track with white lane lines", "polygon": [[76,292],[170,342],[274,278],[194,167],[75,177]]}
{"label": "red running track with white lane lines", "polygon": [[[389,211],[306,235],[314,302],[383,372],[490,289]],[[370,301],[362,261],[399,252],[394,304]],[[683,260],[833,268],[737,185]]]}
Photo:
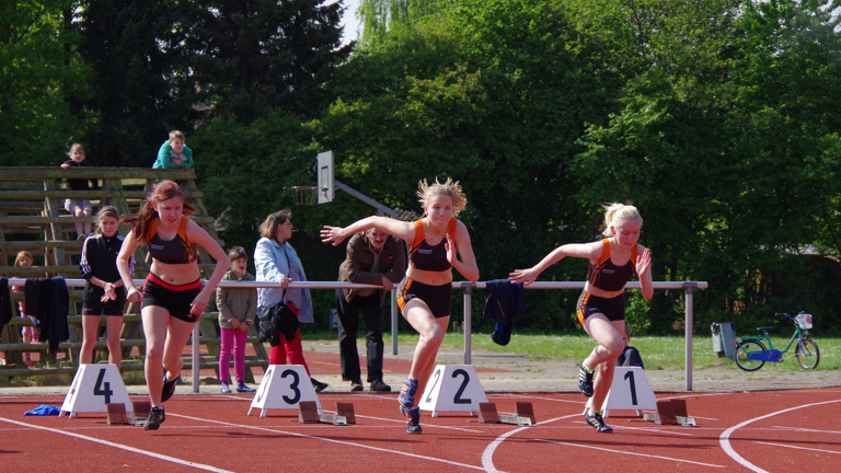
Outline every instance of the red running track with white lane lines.
{"label": "red running track with white lane lines", "polygon": [[[142,400],[145,396],[133,396]],[[3,396],[3,471],[841,471],[841,388],[668,394],[687,400],[696,427],[660,426],[613,411],[613,434],[581,417],[571,393],[489,393],[500,413],[533,403],[538,425],[485,425],[465,414],[423,413],[424,434],[405,432],[396,394],[319,396],[325,411],[352,402],[356,425],[300,424],[297,411],[247,416],[251,395],[182,394],[160,430],[108,426],[100,414],[36,417],[64,396]]]}

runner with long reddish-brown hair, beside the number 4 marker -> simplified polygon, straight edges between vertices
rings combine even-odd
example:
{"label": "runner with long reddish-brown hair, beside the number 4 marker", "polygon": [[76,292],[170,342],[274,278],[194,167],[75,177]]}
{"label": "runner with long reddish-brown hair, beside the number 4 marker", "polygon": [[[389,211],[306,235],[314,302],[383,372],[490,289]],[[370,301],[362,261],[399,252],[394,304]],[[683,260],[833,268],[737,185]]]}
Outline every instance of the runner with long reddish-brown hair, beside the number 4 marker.
{"label": "runner with long reddish-brown hair, beside the number 4 marker", "polygon": [[[157,429],[165,415],[162,403],[175,392],[184,365],[181,354],[193,325],[207,308],[216,286],[228,270],[228,255],[219,243],[189,219],[196,209],[172,181],[161,181],[146,197],[137,215],[123,217],[130,224],[117,256],[117,268],[129,302],[140,302],[146,335],[146,384],[152,408],[143,425]],[[142,295],[135,286],[128,262],[140,244],[149,247],[152,264]],[[214,274],[201,285],[196,250],[201,246],[214,259]],[[163,376],[161,376],[163,374]]]}

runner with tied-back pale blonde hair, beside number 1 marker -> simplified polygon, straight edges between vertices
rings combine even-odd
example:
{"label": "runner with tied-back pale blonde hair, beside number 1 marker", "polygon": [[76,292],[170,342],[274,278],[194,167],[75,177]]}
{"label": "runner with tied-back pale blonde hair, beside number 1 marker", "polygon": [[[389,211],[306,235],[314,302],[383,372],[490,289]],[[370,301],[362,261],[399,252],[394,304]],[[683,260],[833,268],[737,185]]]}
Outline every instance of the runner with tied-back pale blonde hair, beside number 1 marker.
{"label": "runner with tied-back pale blonde hair, beside number 1 marker", "polygon": [[563,257],[589,259],[587,284],[578,298],[577,313],[584,330],[599,345],[578,368],[578,389],[590,397],[584,411],[585,419],[600,432],[613,431],[604,424],[600,409],[613,382],[615,360],[624,348],[625,284],[636,273],[643,297],[650,299],[654,295],[650,254],[636,243],[643,217],[636,207],[622,204],[612,204],[606,210],[606,239],[558,246],[534,267],[516,269],[509,276],[515,282],[530,285]]}

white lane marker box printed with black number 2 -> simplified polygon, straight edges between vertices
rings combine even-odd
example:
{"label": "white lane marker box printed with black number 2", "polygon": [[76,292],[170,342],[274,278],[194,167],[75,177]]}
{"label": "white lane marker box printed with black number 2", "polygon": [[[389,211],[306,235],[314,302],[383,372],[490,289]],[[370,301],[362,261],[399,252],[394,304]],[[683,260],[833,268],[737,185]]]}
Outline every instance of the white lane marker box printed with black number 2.
{"label": "white lane marker box printed with black number 2", "polygon": [[484,402],[487,402],[487,396],[472,366],[438,365],[426,382],[418,406],[431,411],[433,417],[437,417],[439,412],[475,414],[479,403]]}

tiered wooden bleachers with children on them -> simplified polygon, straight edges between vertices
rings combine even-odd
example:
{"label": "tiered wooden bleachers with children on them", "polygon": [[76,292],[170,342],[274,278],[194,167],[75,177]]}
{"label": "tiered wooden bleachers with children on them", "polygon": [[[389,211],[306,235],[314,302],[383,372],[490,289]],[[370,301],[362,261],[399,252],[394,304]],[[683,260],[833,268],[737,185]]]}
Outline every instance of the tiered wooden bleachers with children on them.
{"label": "tiered wooden bleachers with children on them", "polygon": [[[62,180],[100,180],[100,189],[68,191]],[[61,276],[66,279],[80,279],[79,256],[82,241],[76,239],[76,222],[95,220],[95,217],[73,217],[64,209],[66,198],[85,198],[93,205],[93,214],[106,205],[116,207],[120,214],[137,212],[151,185],[158,180],[169,178],[178,182],[188,201],[196,206],[193,220],[219,241],[214,229],[214,218],[207,212],[203,193],[195,184],[193,170],[152,170],[137,168],[88,168],[62,170],[56,168],[2,168],[0,166],[0,276],[7,278],[37,278]],[[125,234],[128,228],[120,228]],[[220,244],[222,242],[220,241]],[[18,252],[28,251],[35,257],[34,267],[15,267],[13,261]],[[135,255],[137,266],[135,278],[143,279],[149,272],[145,249]],[[216,267],[212,258],[199,251],[199,268],[204,275]],[[70,316],[68,324],[70,339],[59,344],[58,353],[48,354],[46,343],[24,344],[21,341],[21,326],[31,325],[28,319],[20,318],[18,301],[23,293],[12,295],[14,315],[12,322],[0,334],[0,354],[4,365],[0,365],[0,376],[34,376],[51,373],[73,373],[79,364],[79,349],[82,342],[81,298],[82,288],[71,287]],[[208,310],[215,308],[211,298]],[[206,312],[199,319],[199,343],[207,349],[198,360],[200,368],[214,368],[218,376],[219,330],[215,321],[218,312]],[[104,318],[101,324],[104,325]],[[246,356],[245,381],[254,382],[252,367],[266,368],[268,356],[262,343],[257,341],[256,324],[252,326],[249,342],[255,355]],[[138,308],[128,304],[124,318],[120,345],[123,346],[122,369],[142,370],[146,341],[143,339]],[[41,362],[28,368],[23,362],[24,351],[39,353]],[[61,355],[61,356],[59,356]],[[99,356],[97,356],[99,355]],[[95,360],[107,362],[107,347],[104,339],[96,342]],[[185,356],[184,369],[191,369],[193,360]]]}

